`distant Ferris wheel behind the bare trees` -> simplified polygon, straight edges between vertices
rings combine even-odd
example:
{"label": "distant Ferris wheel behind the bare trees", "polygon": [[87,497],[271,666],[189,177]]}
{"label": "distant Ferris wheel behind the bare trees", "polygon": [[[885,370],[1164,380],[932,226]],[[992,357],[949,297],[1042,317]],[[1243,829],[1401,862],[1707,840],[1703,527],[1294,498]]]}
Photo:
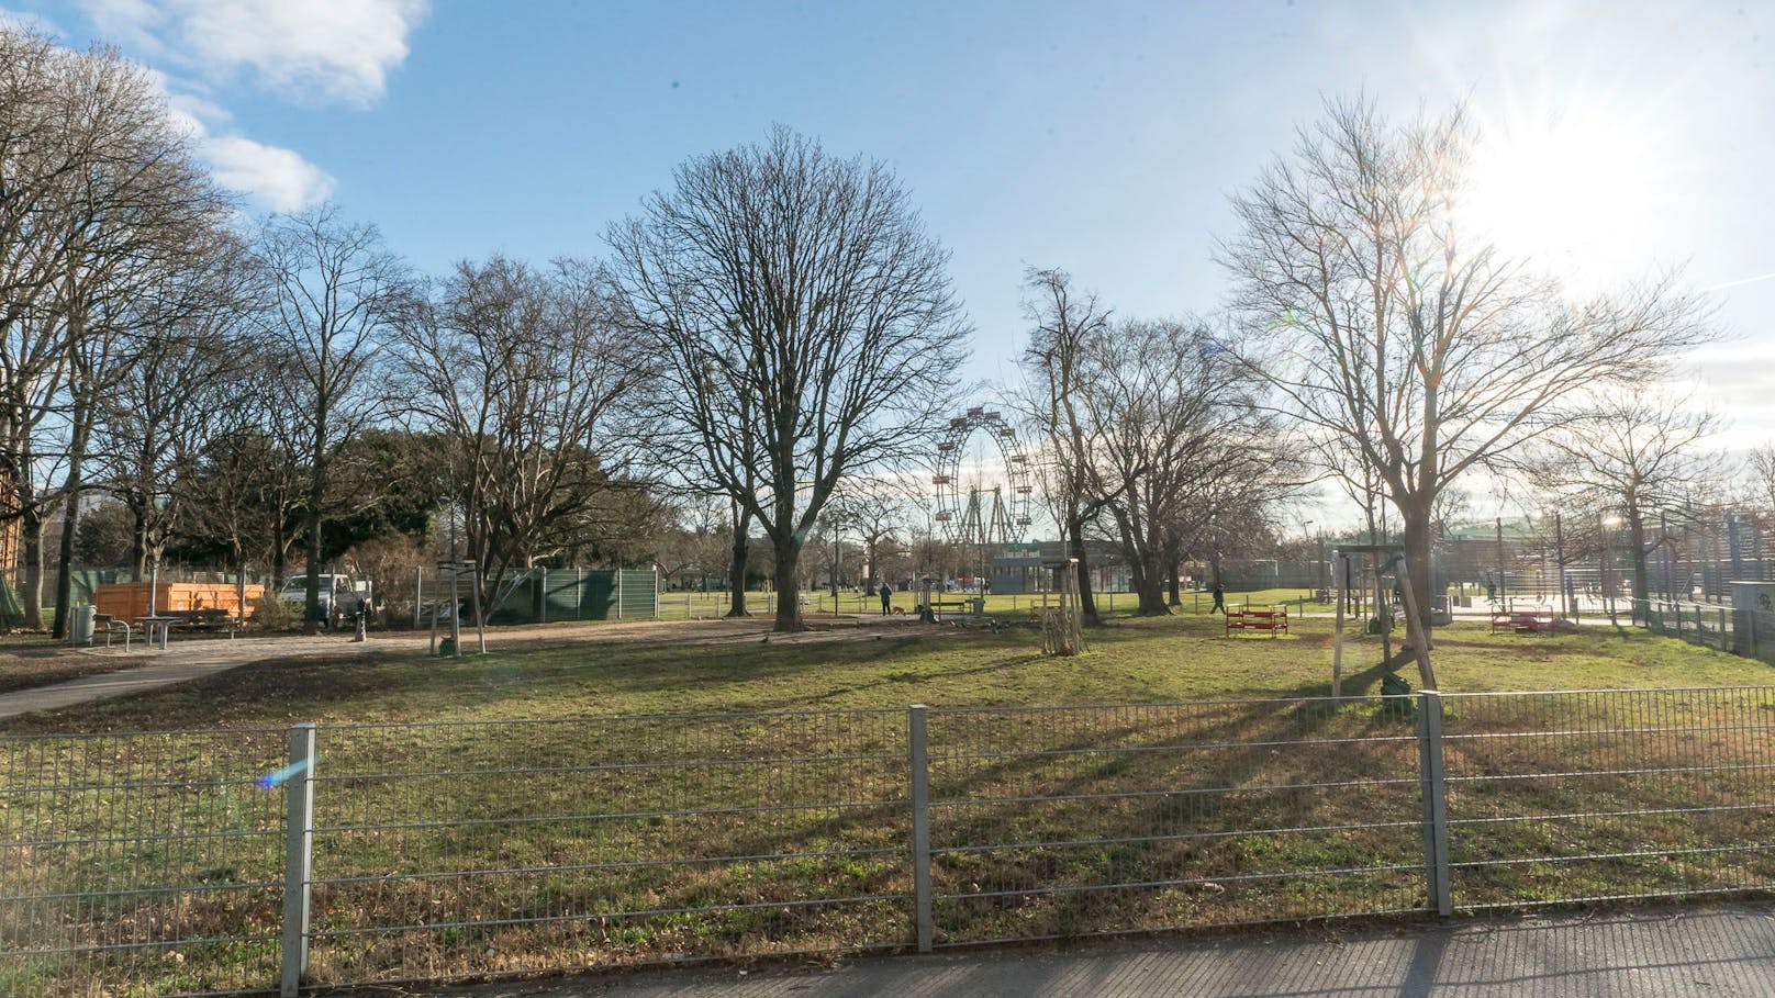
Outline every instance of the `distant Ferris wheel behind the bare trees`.
{"label": "distant Ferris wheel behind the bare trees", "polygon": [[[996,456],[1001,471],[962,467],[974,433],[987,435],[990,446],[985,456]],[[998,412],[976,405],[950,419],[950,426],[937,439],[935,467],[937,472],[932,476],[935,511],[932,519],[943,524],[943,531],[951,542],[987,545],[1022,540],[1024,531],[1030,529],[1030,508],[1035,494],[1030,456],[1022,453],[1017,430],[1005,423]],[[967,471],[974,474],[966,476]],[[987,474],[992,474],[990,481]]]}

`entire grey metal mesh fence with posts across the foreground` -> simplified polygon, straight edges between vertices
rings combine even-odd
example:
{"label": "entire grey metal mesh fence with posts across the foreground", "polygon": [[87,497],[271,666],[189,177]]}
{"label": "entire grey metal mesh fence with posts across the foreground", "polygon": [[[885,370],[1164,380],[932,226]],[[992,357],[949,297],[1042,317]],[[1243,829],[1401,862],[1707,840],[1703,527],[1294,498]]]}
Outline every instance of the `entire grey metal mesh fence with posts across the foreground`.
{"label": "entire grey metal mesh fence with posts across the foreground", "polygon": [[0,993],[1775,886],[1775,687],[0,737]]}

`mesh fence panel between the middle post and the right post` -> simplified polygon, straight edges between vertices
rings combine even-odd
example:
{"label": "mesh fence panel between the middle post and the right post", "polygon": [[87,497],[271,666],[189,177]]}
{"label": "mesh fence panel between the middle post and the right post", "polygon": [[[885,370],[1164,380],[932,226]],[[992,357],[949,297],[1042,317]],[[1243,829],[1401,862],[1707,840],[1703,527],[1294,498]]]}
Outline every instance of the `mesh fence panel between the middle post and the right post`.
{"label": "mesh fence panel between the middle post and the right post", "polygon": [[1424,907],[1400,707],[932,712],[935,945]]}

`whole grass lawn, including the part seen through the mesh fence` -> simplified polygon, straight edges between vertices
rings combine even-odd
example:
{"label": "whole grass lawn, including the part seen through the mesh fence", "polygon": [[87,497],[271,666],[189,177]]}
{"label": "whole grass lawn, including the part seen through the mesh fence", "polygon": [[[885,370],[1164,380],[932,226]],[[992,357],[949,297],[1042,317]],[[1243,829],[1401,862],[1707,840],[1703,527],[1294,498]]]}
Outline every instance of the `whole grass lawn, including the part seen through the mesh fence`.
{"label": "whole grass lawn, including the part seen through the mesh fence", "polygon": [[[7,733],[254,730],[18,742],[0,765],[0,844],[46,829],[75,844],[36,851],[12,890],[119,900],[36,902],[27,920],[0,911],[0,948],[9,922],[25,934],[12,945],[32,923],[98,945],[156,918],[181,938],[275,934],[282,797],[254,776],[280,764],[296,721],[321,723],[321,982],[903,947],[909,703],[950,709],[932,716],[939,943],[1424,904],[1411,721],[1374,701],[1258,700],[1328,691],[1331,620],[1228,639],[1216,616],[1116,618],[1076,659],[1042,657],[1030,627],[889,622],[769,641],[763,627],[667,623],[600,641],[563,630],[504,648],[495,630],[486,657],[264,662],[16,717]],[[1347,693],[1376,689],[1365,662],[1377,657],[1377,639],[1349,641]],[[1771,680],[1747,659],[1612,629],[1518,638],[1463,623],[1440,632],[1436,668],[1450,693]],[[1225,703],[992,710],[1203,700]],[[740,714],[781,710],[820,714]],[[706,716],[618,717],[683,712]],[[1457,705],[1450,772],[1477,780],[1452,790],[1454,817],[1471,822],[1452,836],[1459,904],[1775,883],[1759,845],[1775,842],[1766,744],[1738,733],[1764,716],[1764,693],[1667,698],[1654,714],[1608,700]],[[428,721],[451,725],[406,725]],[[1558,728],[1576,733],[1512,737]],[[1731,769],[1709,776],[1695,760]],[[103,780],[30,790],[69,774]],[[1610,817],[1638,808],[1651,810]],[[225,835],[130,838],[165,822]],[[1131,883],[1157,886],[1111,886]],[[130,893],[167,884],[202,888]],[[44,961],[11,986],[263,984],[272,952],[240,947]]]}

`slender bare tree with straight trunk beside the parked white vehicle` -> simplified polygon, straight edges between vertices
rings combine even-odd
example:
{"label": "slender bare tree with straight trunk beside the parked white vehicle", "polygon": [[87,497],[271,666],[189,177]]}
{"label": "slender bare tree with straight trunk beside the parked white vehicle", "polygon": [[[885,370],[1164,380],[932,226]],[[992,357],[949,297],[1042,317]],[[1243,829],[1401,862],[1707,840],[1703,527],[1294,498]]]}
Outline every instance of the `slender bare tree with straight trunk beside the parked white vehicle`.
{"label": "slender bare tree with straight trunk beside the parked white vehicle", "polygon": [[406,272],[375,226],[334,204],[266,222],[257,250],[270,281],[264,330],[280,355],[279,423],[307,467],[305,629],[321,627],[321,520],[334,456],[376,419],[387,400],[376,366],[387,323],[408,300]]}

